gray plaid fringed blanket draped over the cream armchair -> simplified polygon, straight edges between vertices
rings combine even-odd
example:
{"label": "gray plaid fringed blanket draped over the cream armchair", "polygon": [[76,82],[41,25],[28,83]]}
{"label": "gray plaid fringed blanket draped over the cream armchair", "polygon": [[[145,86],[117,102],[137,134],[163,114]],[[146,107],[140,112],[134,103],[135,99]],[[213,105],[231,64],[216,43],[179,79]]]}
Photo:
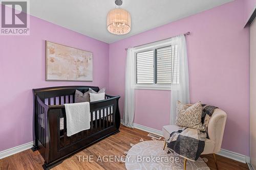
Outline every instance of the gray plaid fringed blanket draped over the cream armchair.
{"label": "gray plaid fringed blanket draped over the cream armchair", "polygon": [[206,126],[206,131],[180,127],[177,132],[171,133],[170,138],[167,140],[168,152],[175,152],[181,157],[196,161],[204,151],[205,140],[208,136],[207,125],[209,118],[205,117],[210,117],[216,108],[215,106],[207,105],[203,108],[202,122],[204,120],[203,125]]}

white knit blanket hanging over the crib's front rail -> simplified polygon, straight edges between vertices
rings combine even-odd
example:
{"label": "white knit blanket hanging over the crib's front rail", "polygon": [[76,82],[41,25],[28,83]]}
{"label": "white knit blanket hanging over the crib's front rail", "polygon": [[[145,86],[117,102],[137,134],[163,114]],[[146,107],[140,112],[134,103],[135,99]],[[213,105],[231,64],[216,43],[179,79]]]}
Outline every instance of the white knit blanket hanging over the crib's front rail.
{"label": "white knit blanket hanging over the crib's front rail", "polygon": [[67,117],[67,136],[90,129],[91,114],[89,102],[64,105]]}

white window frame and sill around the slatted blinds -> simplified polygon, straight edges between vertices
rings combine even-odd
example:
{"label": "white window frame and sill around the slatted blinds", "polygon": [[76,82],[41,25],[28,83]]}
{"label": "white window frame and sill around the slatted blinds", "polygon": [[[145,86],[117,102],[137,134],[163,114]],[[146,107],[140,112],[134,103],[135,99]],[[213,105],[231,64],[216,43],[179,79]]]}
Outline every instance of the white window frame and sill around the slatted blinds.
{"label": "white window frame and sill around the slatted blinds", "polygon": [[[175,44],[159,44],[157,47],[147,48],[145,50],[135,51],[135,89],[148,89],[148,90],[171,90],[173,84],[158,84],[157,83],[157,50],[164,47],[175,46]],[[154,50],[154,83],[153,84],[142,84],[137,83],[137,54]]]}

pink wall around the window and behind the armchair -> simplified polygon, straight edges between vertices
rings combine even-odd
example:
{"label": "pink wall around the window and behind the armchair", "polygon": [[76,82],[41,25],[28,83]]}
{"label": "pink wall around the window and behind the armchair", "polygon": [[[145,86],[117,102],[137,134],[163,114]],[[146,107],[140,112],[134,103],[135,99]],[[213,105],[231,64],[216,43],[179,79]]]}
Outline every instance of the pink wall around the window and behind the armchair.
{"label": "pink wall around the window and behind the armchair", "polygon": [[[243,0],[169,23],[110,44],[112,94],[123,111],[124,48],[191,32],[187,37],[191,103],[202,101],[227,112],[222,148],[249,155],[249,30]],[[169,123],[170,91],[136,90],[134,122],[161,130]]]}

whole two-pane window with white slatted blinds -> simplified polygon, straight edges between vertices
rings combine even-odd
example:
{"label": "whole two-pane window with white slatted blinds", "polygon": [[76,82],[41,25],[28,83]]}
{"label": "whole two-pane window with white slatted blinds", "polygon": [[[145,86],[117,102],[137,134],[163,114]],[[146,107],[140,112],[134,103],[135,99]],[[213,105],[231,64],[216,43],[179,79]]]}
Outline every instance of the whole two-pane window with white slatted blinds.
{"label": "whole two-pane window with white slatted blinds", "polygon": [[170,87],[179,84],[177,45],[136,53],[137,87]]}

